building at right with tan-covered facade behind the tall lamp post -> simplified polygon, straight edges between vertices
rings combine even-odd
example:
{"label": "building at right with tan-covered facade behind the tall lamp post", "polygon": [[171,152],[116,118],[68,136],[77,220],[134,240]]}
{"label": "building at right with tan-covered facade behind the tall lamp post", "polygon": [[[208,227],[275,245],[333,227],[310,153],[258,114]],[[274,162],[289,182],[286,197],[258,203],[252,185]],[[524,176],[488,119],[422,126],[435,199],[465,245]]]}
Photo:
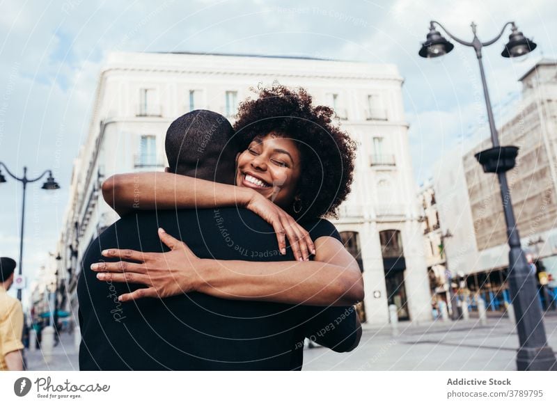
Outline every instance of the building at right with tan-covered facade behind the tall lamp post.
{"label": "building at right with tan-covered facade behind the tall lamp post", "polygon": [[[519,80],[521,99],[499,128],[499,139],[501,145],[519,147],[517,164],[507,172],[510,198],[545,308],[546,289],[557,287],[556,61],[542,59]],[[447,154],[437,164],[434,188],[442,201],[441,221],[455,235],[446,241],[450,267],[466,275],[466,289],[480,294],[490,310],[504,310],[510,295],[503,199],[497,176],[483,173],[474,157],[491,147],[486,139],[465,153]]]}

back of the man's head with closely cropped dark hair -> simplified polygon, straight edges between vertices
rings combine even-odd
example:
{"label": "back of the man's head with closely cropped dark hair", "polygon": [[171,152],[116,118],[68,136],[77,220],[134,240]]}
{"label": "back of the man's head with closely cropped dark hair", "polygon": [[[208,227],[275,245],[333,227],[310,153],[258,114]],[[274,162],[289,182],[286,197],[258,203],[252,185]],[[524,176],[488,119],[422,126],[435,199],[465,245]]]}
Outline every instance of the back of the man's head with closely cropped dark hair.
{"label": "back of the man's head with closely cropped dark hair", "polygon": [[194,110],[176,119],[166,132],[166,157],[172,173],[203,180],[233,182],[234,130],[219,113]]}

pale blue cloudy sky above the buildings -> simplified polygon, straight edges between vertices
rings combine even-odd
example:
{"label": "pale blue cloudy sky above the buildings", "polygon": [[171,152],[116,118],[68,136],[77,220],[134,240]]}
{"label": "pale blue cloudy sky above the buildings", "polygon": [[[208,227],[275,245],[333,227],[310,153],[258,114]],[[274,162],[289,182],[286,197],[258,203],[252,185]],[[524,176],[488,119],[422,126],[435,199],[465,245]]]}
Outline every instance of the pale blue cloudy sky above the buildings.
{"label": "pale blue cloudy sky above the buildings", "polygon": [[[487,136],[476,54],[455,44],[418,56],[431,19],[464,40],[476,22],[484,42],[508,21],[538,43],[528,58],[501,57],[510,30],[484,49],[496,122],[519,95],[517,79],[557,56],[552,0],[497,1],[39,1],[0,0],[0,161],[29,177],[52,169],[61,190],[28,185],[24,273],[28,283],[56,253],[72,170],[84,142],[100,69],[111,51],[197,51],[394,63],[416,184],[441,154]],[[5,170],[2,170],[6,175]],[[0,184],[0,255],[19,258],[22,186]]]}

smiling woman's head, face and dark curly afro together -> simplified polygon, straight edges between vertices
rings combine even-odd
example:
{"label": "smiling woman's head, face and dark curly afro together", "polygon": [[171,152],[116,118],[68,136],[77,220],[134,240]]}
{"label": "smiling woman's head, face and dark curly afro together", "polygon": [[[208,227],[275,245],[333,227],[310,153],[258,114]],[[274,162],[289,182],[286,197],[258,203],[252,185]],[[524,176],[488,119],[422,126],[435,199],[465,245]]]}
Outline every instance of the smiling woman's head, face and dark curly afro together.
{"label": "smiling woman's head, face and dark curly afro together", "polygon": [[[256,100],[240,104],[234,125],[244,150],[238,159],[240,172],[243,167],[259,180],[276,181],[272,186],[278,200],[274,202],[296,219],[336,216],[353,180],[356,143],[334,125],[331,108],[312,103],[303,88],[263,88]],[[265,167],[246,168],[247,154],[256,163],[266,159]],[[261,177],[263,172],[266,178]],[[271,178],[272,173],[277,177]],[[297,180],[291,182],[291,178]],[[281,187],[280,195],[277,187]],[[263,194],[274,195],[269,190]]]}

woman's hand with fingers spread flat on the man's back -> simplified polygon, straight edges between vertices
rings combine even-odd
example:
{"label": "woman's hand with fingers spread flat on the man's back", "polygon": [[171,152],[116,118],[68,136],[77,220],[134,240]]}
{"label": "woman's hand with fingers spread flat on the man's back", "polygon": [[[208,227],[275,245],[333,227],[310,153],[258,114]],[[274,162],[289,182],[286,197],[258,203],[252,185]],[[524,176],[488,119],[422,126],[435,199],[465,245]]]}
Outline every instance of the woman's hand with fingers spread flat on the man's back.
{"label": "woman's hand with fingers spread flat on the man's back", "polygon": [[[159,228],[161,241],[171,248],[166,253],[143,253],[130,249],[108,249],[104,257],[118,257],[120,262],[101,262],[91,265],[98,271],[97,278],[112,283],[138,283],[147,288],[122,294],[119,301],[133,301],[144,297],[165,298],[196,291],[202,283],[197,269],[201,259],[187,245]],[[123,260],[133,260],[138,263]]]}

